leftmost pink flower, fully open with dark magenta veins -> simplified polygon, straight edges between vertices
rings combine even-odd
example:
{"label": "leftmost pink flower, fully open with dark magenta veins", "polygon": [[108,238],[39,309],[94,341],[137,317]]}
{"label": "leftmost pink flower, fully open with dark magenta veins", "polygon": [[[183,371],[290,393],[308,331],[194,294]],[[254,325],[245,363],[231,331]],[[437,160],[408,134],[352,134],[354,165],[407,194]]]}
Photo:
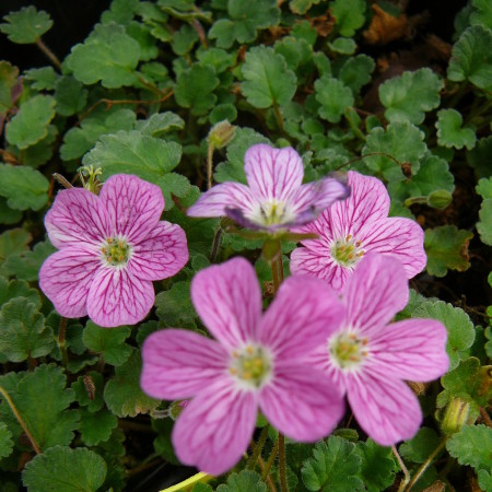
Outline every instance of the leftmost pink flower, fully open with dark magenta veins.
{"label": "leftmost pink flower, fully open with dark magenta veins", "polygon": [[89,316],[99,326],[133,325],[154,304],[153,280],[188,261],[185,232],[159,221],[161,189],[137,176],[112,176],[99,196],[62,190],[46,214],[51,255],[39,286],[61,316]]}

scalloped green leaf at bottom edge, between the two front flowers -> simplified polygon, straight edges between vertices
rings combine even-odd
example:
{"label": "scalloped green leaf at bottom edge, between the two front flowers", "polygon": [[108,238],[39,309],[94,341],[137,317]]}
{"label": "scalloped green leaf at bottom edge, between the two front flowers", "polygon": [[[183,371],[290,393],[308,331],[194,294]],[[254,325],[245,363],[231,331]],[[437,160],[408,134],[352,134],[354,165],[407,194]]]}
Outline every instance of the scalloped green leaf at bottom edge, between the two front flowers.
{"label": "scalloped green leaf at bottom edge, between the two front flowers", "polygon": [[303,462],[301,473],[307,490],[353,492],[363,488],[358,477],[361,466],[362,458],[355,445],[331,435],[327,443],[316,443],[313,457]]}

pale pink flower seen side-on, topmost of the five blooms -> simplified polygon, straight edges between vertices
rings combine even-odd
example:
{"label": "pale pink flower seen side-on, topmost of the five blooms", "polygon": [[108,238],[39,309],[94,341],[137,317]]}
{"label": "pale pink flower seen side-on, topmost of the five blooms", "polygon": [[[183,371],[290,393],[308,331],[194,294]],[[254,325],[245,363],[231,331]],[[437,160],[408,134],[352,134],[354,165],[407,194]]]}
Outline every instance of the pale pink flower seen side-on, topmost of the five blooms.
{"label": "pale pink flower seen side-on, topmost of the five blooms", "polygon": [[244,162],[249,186],[216,185],[188,209],[188,215],[227,215],[245,227],[274,232],[313,221],[350,192],[335,178],[303,185],[304,164],[292,148],[259,143],[247,150]]}

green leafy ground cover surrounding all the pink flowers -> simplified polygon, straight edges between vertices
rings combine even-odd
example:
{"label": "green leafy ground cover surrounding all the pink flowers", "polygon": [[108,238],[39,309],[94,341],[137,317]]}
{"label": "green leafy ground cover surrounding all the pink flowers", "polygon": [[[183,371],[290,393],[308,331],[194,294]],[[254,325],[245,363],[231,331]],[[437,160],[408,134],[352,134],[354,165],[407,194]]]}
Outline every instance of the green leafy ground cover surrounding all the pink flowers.
{"label": "green leafy ground cover surrounding all the pink flowers", "polygon": [[[2,35],[40,48],[46,66],[0,61],[2,491],[178,481],[174,421],[163,415],[179,408],[140,389],[140,348],[166,327],[203,333],[190,281],[232,256],[255,265],[270,302],[261,241],[227,220],[186,215],[207,188],[207,161],[215,183],[246,183],[255,143],[294,147],[305,183],[349,169],[382,179],[390,215],[425,231],[426,269],[397,319],[434,318],[448,331],[449,372],[411,384],[424,422],[397,446],[401,461],[348,411],[321,442],[288,441],[289,490],[492,491],[489,2],[470,0],[454,26],[445,43],[424,15],[386,1],[114,0],[59,60],[43,42],[56,28],[48,13],[28,7],[3,17]],[[224,120],[234,128],[214,127]],[[67,320],[38,289],[56,250],[43,223],[60,188],[52,174],[80,186],[81,166],[99,167],[102,180],[126,173],[157,185],[165,220],[186,233],[188,263],[154,282],[155,307],[137,326]],[[294,248],[283,244],[285,273]],[[270,429],[258,465],[189,490],[279,488],[278,462],[268,462],[276,441]]]}

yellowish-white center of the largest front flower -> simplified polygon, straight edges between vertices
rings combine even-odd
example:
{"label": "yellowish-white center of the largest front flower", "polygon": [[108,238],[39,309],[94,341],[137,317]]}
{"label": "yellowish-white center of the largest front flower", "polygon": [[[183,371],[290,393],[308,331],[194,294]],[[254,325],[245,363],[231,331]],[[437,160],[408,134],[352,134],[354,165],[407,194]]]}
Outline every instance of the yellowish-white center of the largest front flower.
{"label": "yellowish-white center of the largest front flower", "polygon": [[248,343],[232,353],[229,372],[248,388],[259,388],[271,375],[271,356],[261,345]]}

